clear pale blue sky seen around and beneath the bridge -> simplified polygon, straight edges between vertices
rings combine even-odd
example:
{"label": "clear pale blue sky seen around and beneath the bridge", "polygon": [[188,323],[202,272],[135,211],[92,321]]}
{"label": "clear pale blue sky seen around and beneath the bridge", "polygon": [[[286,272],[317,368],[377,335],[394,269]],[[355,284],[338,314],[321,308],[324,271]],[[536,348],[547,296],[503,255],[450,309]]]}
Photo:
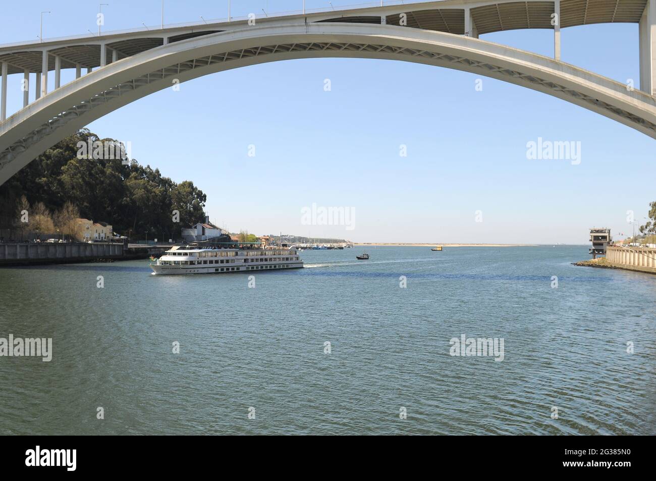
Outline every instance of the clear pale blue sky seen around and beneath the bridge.
{"label": "clear pale blue sky seen around and beneath the bridge", "polygon": [[[104,30],[160,22],[159,0],[107,0]],[[165,23],[223,18],[227,0],[167,0]],[[234,16],[300,9],[301,0],[236,1]],[[335,7],[358,3],[334,0]],[[308,8],[327,2],[307,0]],[[94,31],[98,4],[3,3],[0,43]],[[552,55],[552,31],[482,39]],[[565,62],[638,86],[637,24],[562,30]],[[74,72],[62,74],[68,81]],[[21,75],[10,77],[18,89]],[[54,75],[51,75],[52,82]],[[323,91],[329,78],[332,91]],[[655,142],[546,94],[407,62],[312,59],[216,73],[166,89],[89,125],[133,142],[133,157],[208,196],[213,222],[255,234],[354,241],[587,243],[590,226],[630,234],[656,200]],[[15,85],[14,85],[15,84]],[[52,88],[52,87],[51,87]],[[14,112],[20,96],[10,96]],[[581,164],[527,160],[526,143],[581,142]],[[255,144],[256,157],[247,156]],[[406,144],[407,157],[399,156]],[[255,160],[253,167],[241,163]],[[305,226],[301,209],[352,207],[354,230]],[[483,222],[475,222],[475,211]]]}

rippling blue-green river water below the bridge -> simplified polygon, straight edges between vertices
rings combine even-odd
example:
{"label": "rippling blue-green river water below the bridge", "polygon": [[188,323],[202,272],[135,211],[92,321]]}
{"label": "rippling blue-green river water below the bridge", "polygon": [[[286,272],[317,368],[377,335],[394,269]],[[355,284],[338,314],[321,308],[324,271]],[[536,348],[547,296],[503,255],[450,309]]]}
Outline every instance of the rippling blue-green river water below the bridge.
{"label": "rippling blue-green river water below the bridge", "polygon": [[656,434],[656,276],[572,266],[586,246],[367,250],[255,287],[0,269],[0,338],[52,338],[0,357],[0,434]]}

